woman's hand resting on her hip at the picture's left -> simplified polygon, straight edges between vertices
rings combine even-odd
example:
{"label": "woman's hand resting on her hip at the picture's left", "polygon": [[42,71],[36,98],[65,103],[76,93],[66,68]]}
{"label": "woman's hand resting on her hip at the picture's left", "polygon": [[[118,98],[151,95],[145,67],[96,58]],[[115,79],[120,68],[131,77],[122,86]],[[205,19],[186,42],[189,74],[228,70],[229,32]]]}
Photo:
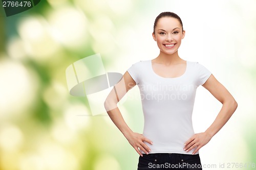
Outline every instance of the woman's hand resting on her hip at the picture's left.
{"label": "woman's hand resting on her hip at the picture's left", "polygon": [[132,132],[125,137],[140,156],[143,156],[143,155],[139,151],[139,149],[146,154],[151,152],[150,148],[144,143],[144,141],[150,144],[153,144],[153,142],[150,139],[143,136],[142,134]]}

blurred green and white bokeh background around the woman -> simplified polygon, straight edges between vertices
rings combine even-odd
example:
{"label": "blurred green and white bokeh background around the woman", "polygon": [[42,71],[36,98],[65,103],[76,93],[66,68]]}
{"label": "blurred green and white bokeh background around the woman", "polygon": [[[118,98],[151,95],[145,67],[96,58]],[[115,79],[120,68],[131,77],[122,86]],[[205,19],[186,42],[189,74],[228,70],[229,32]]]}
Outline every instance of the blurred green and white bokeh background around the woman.
{"label": "blurred green and white bokeh background around the woman", "polygon": [[[204,169],[256,169],[255,8],[253,0],[42,0],[6,17],[1,7],[0,169],[137,169],[138,154],[110,118],[92,116],[87,98],[69,94],[65,70],[96,53],[107,72],[122,74],[137,61],[157,57],[153,23],[163,11],[183,21],[180,57],[205,65],[239,105],[200,150]],[[195,132],[204,131],[220,108],[199,87]],[[137,87],[120,110],[131,129],[142,133]]]}

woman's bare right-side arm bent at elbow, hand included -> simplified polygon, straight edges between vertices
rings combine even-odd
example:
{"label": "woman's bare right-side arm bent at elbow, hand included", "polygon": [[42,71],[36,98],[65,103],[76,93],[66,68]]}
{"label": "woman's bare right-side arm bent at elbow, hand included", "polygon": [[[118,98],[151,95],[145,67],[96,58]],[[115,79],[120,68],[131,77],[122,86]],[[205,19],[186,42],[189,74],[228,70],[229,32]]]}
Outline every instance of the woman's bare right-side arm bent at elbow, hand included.
{"label": "woman's bare right-side arm bent at elbow, hand included", "polygon": [[193,135],[184,143],[184,151],[186,152],[189,152],[197,147],[197,149],[193,152],[193,155],[196,154],[205,144],[207,144],[217,132],[219,132],[219,130],[227,123],[228,119],[238,107],[238,104],[234,100],[233,96],[220,82],[218,82],[213,75],[211,75],[202,86],[206,88],[212,95],[214,95],[223,106],[214,123],[212,123],[205,132]]}

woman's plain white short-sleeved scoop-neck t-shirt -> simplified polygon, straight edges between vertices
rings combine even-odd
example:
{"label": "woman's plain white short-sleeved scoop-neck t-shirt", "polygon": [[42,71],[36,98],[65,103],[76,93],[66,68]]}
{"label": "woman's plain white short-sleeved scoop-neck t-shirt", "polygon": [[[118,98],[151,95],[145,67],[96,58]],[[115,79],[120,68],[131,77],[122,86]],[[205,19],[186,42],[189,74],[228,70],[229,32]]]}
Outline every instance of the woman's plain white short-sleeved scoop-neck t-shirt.
{"label": "woman's plain white short-sleeved scoop-neck t-shirt", "polygon": [[163,78],[154,72],[151,60],[137,62],[127,71],[140,89],[143,135],[153,141],[145,142],[151,153],[192,154],[195,149],[185,152],[183,148],[195,134],[192,112],[196,90],[211,72],[198,62],[186,61],[182,76]]}

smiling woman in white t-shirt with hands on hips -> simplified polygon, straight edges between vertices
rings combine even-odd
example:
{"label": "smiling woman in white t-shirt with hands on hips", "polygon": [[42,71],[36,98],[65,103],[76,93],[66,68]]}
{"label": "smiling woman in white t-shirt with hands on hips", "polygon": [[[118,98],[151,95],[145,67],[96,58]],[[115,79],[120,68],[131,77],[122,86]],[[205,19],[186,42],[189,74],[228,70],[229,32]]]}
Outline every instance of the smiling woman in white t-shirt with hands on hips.
{"label": "smiling woman in white t-shirt with hands on hips", "polygon": [[[177,14],[159,14],[152,35],[160,49],[158,57],[133,64],[114,86],[104,106],[140,155],[138,169],[202,169],[199,149],[226,124],[237,102],[207,68],[179,57],[178,48],[185,31]],[[117,107],[119,100],[135,85],[141,93],[143,134],[127,126]],[[223,106],[214,123],[205,132],[195,134],[191,115],[200,85]]]}

